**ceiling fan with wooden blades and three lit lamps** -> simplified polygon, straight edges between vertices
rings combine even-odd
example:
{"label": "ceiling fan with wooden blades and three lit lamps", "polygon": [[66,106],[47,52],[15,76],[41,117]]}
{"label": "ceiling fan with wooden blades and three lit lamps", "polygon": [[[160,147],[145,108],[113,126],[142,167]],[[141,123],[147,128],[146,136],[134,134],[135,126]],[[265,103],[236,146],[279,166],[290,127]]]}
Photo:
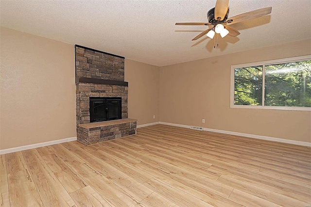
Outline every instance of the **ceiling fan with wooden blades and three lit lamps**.
{"label": "ceiling fan with wooden blades and three lit lamps", "polygon": [[[218,47],[218,34],[221,37],[225,37],[226,35],[230,36],[238,36],[240,35],[239,31],[230,27],[228,25],[235,24],[241,21],[262,17],[268,15],[272,11],[272,7],[262,8],[258,10],[254,10],[251,12],[246,12],[241,15],[237,15],[234,17],[228,18],[229,8],[228,8],[229,0],[217,0],[215,8],[212,8],[207,12],[207,20],[208,22],[188,22],[188,23],[176,23],[175,25],[206,25],[212,26],[208,28],[206,31],[197,35],[192,40],[197,40],[200,37],[207,35],[209,38],[213,38],[215,36],[215,42],[217,41]],[[214,45],[215,48],[215,45]]]}

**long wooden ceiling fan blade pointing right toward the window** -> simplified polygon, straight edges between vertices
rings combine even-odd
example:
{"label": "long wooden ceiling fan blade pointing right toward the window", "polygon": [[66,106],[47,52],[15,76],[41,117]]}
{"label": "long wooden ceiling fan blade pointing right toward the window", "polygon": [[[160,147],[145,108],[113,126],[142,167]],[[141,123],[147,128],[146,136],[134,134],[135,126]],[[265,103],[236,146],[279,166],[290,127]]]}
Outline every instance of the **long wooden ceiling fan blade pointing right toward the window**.
{"label": "long wooden ceiling fan blade pointing right toward the window", "polygon": [[271,11],[272,11],[272,7],[262,8],[262,9],[254,10],[251,12],[246,12],[244,14],[237,15],[234,17],[230,17],[230,18],[228,18],[228,20],[226,22],[227,22],[227,24],[235,24],[235,23],[238,23],[241,21],[245,21],[245,20],[249,20],[249,19],[258,18],[258,17],[268,15],[271,13]]}

